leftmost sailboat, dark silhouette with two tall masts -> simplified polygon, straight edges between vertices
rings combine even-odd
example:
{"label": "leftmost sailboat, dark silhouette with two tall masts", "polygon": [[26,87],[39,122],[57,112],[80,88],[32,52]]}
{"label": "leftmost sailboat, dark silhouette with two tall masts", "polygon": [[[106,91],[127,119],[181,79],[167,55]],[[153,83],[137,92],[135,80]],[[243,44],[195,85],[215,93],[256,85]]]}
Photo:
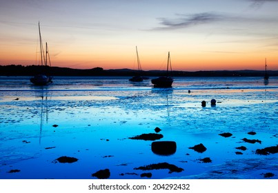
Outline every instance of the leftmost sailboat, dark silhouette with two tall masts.
{"label": "leftmost sailboat, dark silhouette with two tall masts", "polygon": [[[40,45],[40,54],[41,54],[41,70],[46,70],[46,67],[48,66],[48,61],[50,63],[50,55],[48,51],[48,43],[46,42],[46,55],[43,51],[43,43],[41,39],[41,28],[39,26],[39,45]],[[52,77],[44,74],[43,72],[41,74],[37,74],[34,77],[30,79],[31,83],[34,83],[34,85],[47,85],[48,83],[52,83]]]}

